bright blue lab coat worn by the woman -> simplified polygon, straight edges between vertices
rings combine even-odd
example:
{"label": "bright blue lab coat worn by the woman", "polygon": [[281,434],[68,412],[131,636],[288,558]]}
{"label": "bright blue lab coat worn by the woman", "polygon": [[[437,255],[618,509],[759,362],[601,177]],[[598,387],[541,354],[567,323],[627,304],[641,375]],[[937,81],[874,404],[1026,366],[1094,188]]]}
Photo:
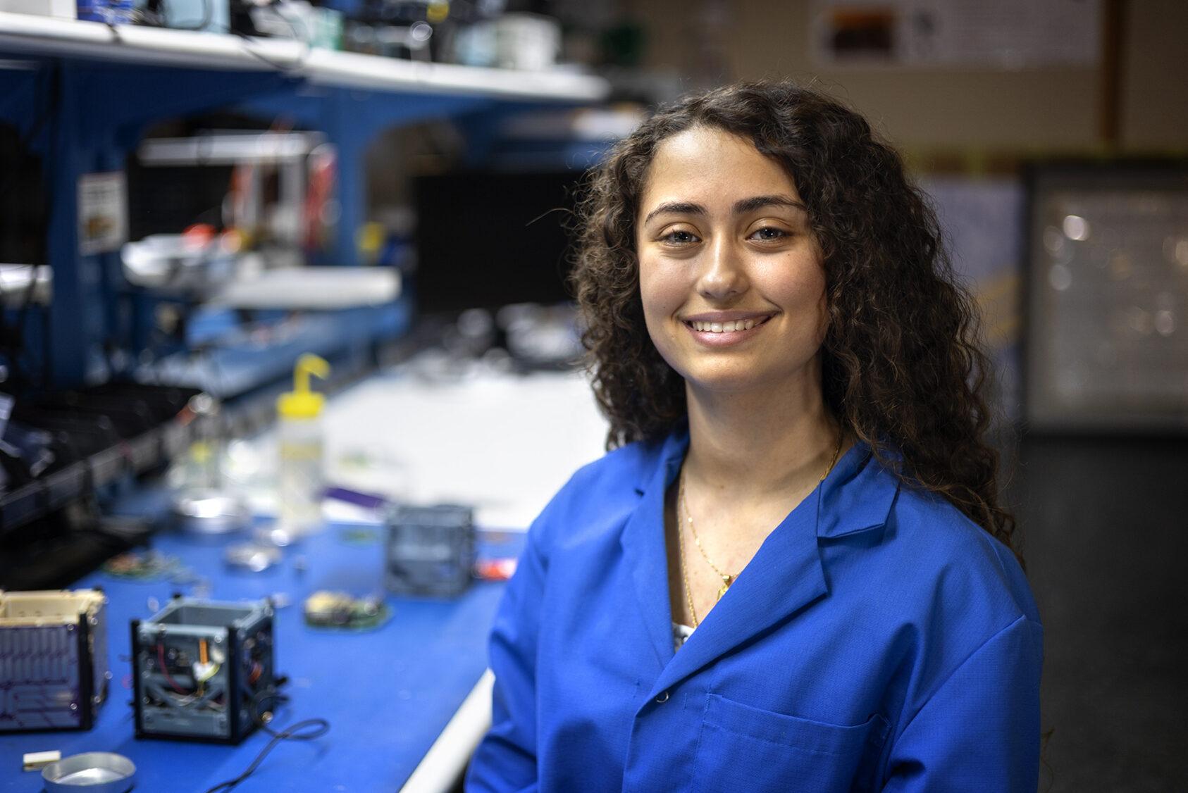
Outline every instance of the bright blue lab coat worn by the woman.
{"label": "bright blue lab coat worn by the woman", "polygon": [[674,651],[688,430],[587,465],[495,618],[468,791],[1036,789],[1043,629],[1011,553],[858,444]]}

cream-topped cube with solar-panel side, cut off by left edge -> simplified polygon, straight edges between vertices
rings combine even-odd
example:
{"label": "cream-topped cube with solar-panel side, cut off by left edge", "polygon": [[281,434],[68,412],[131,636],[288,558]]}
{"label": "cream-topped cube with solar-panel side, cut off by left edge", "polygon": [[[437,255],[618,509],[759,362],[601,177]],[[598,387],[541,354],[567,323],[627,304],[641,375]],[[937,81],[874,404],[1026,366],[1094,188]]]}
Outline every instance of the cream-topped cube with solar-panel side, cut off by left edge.
{"label": "cream-topped cube with solar-panel side, cut off by left edge", "polygon": [[89,730],[107,699],[100,590],[0,591],[0,734]]}

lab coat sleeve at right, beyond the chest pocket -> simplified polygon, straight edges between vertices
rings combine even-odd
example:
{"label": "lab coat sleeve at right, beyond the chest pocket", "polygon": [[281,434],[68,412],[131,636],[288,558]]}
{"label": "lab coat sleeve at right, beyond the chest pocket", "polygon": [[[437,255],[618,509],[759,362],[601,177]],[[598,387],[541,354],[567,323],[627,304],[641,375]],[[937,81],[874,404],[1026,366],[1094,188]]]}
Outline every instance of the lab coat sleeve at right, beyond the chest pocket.
{"label": "lab coat sleeve at right, beyond the chest pocket", "polygon": [[884,793],[1035,793],[1042,661],[1025,616],[981,645],[896,738]]}

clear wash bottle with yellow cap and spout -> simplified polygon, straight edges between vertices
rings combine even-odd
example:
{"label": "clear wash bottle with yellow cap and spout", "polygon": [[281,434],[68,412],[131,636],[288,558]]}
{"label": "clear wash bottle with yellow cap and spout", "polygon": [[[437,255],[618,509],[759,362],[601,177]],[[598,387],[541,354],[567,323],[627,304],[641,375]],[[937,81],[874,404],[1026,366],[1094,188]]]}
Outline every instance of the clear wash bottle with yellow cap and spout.
{"label": "clear wash bottle with yellow cap and spout", "polygon": [[287,545],[322,527],[326,491],[322,408],[326,398],[309,388],[309,378],[326,379],[330,364],[302,355],[293,367],[293,389],[277,399],[277,524],[268,539]]}

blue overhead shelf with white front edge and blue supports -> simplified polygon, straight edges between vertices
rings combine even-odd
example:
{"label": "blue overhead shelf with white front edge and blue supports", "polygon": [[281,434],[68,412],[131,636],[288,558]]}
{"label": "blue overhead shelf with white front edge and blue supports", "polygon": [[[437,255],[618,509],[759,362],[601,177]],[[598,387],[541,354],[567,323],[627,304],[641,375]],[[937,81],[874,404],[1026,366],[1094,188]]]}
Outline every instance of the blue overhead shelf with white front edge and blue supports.
{"label": "blue overhead shelf with white front edge and blue supports", "polygon": [[[125,322],[115,309],[124,287],[118,254],[78,249],[78,180],[121,171],[148,125],[238,108],[323,131],[340,163],[341,214],[327,260],[349,266],[358,264],[355,230],[366,218],[364,153],[379,132],[428,119],[582,104],[608,93],[604,80],[588,75],[413,63],[278,39],[12,13],[0,13],[0,57],[29,66],[0,70],[0,119],[31,135],[50,167],[49,379],[56,387],[102,379],[103,348],[121,337]],[[34,129],[39,112],[51,118]]]}

